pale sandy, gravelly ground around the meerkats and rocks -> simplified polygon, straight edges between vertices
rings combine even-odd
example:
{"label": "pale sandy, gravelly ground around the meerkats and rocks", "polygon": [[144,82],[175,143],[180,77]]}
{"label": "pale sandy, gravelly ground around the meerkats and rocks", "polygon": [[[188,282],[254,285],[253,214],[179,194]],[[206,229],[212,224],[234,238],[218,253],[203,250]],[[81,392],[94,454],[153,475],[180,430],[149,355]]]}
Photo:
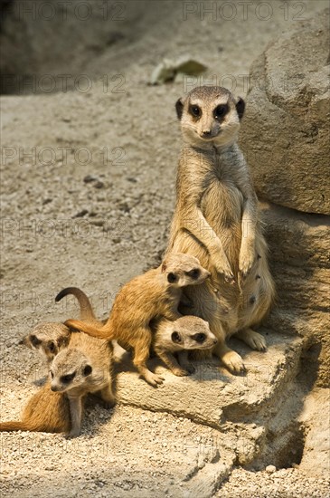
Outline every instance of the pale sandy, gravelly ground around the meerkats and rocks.
{"label": "pale sandy, gravelly ground around the meerkats and rocks", "polygon": [[[19,416],[43,375],[40,359],[18,341],[40,321],[77,314],[73,301],[55,306],[56,293],[76,285],[99,317],[107,316],[122,283],[158,263],[165,249],[180,148],[174,102],[189,88],[186,80],[148,86],[156,63],[191,54],[209,67],[209,80],[229,88],[233,81],[244,96],[250,63],[297,23],[294,3],[288,20],[285,2],[267,4],[268,21],[256,15],[257,2],[248,19],[239,10],[231,21],[184,21],[181,2],[150,5],[153,22],[140,26],[134,44],[85,62],[95,78],[90,91],[2,98],[3,147],[13,151],[2,162],[2,420]],[[327,1],[301,4],[307,16]],[[108,89],[104,74],[115,76]],[[119,81],[123,92],[114,88]],[[199,452],[186,441],[212,432],[123,406],[88,408],[86,417],[77,441],[2,435],[2,496],[184,496],[184,476]],[[297,469],[237,469],[215,496],[325,497],[327,489],[325,480]]]}

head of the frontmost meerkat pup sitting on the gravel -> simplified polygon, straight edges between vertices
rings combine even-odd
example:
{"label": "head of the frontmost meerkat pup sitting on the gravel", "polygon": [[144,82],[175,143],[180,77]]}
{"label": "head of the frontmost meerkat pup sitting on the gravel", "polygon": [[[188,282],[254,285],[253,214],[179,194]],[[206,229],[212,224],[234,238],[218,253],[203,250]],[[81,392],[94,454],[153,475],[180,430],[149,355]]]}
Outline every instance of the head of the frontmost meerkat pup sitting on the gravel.
{"label": "head of the frontmost meerkat pup sitting on the gravel", "polygon": [[51,389],[65,392],[75,388],[87,388],[93,381],[90,359],[80,350],[62,350],[52,362]]}

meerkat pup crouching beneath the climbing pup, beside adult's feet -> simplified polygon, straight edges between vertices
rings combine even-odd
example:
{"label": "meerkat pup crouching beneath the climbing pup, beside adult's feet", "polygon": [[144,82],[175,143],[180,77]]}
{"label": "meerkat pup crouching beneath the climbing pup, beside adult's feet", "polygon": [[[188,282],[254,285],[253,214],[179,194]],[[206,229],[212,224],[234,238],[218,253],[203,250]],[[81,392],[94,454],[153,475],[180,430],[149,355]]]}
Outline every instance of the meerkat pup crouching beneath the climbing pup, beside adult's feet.
{"label": "meerkat pup crouching beneath the climbing pup, beside adult's feet", "polygon": [[[196,316],[183,316],[174,321],[161,318],[152,325],[152,350],[176,376],[194,372],[188,361],[191,350],[209,350],[218,342],[207,321]],[[177,355],[178,361],[174,355]]]}

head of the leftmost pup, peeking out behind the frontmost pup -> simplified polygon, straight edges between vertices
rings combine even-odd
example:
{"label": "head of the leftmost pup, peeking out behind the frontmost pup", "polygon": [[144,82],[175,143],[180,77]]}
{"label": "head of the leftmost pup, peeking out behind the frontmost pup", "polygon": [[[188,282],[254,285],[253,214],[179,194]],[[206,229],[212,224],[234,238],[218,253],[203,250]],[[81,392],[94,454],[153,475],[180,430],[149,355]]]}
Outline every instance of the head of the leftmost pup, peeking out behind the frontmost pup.
{"label": "head of the leftmost pup, peeking out behind the frontmost pup", "polygon": [[40,323],[21,340],[21,344],[31,350],[37,350],[44,359],[51,363],[55,356],[69,344],[71,331],[63,323],[56,321]]}

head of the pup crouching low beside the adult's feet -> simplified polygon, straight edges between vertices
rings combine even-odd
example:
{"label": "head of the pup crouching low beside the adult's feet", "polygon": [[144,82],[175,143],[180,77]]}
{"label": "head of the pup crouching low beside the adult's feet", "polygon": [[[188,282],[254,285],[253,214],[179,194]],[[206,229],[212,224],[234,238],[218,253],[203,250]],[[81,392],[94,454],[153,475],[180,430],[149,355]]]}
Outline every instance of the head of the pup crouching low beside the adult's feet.
{"label": "head of the pup crouching low beside the adult's feet", "polygon": [[171,340],[177,350],[209,350],[218,342],[209,323],[196,316],[173,321]]}

